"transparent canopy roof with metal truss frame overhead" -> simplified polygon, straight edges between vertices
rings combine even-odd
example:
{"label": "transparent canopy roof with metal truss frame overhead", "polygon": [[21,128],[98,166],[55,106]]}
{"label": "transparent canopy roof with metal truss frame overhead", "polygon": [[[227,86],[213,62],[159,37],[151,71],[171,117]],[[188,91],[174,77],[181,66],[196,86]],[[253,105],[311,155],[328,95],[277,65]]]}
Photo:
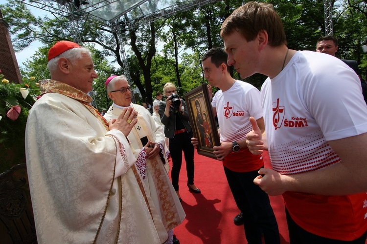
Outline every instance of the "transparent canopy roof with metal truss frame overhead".
{"label": "transparent canopy roof with metal truss frame overhead", "polygon": [[[69,20],[100,23],[115,20],[122,29],[134,28],[159,18],[168,18],[219,0],[17,0]],[[126,18],[127,17],[127,18]],[[120,20],[121,19],[121,20]],[[106,22],[107,20],[107,22]]]}

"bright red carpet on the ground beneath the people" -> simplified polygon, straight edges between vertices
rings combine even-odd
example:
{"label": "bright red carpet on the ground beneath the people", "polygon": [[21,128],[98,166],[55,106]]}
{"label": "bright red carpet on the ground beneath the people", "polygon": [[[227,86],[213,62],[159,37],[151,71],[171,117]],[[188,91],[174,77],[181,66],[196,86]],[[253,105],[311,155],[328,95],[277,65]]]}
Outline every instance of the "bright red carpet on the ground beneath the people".
{"label": "bright red carpet on the ground beneath the people", "polygon": [[[269,156],[264,155],[266,162]],[[243,225],[233,224],[239,213],[224,174],[222,162],[195,152],[195,185],[202,194],[193,194],[186,186],[186,167],[180,173],[180,195],[186,213],[184,222],[174,229],[180,244],[246,244]],[[172,162],[170,161],[171,167]],[[266,167],[269,163],[266,163]],[[170,173],[169,173],[170,174]],[[289,244],[289,235],[281,196],[270,197],[279,226],[282,244]]]}

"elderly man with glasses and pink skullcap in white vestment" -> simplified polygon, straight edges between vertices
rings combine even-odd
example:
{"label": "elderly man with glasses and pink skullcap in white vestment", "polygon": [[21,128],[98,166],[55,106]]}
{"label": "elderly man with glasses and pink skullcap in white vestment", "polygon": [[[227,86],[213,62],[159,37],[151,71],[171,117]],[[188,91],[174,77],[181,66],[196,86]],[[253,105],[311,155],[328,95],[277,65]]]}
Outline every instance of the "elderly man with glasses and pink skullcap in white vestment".
{"label": "elderly man with glasses and pink skullcap in white vestment", "polygon": [[[127,138],[135,152],[139,173],[149,189],[146,191],[147,195],[152,198],[154,206],[161,216],[162,223],[169,231],[170,238],[167,243],[179,243],[176,237],[172,238],[172,226],[169,225],[170,211],[167,211],[166,207],[176,205],[182,220],[184,220],[185,214],[164,167],[164,165],[168,166],[168,161],[164,148],[163,128],[154,121],[147,109],[131,102],[130,85],[124,75],[112,76],[112,78],[107,79],[106,89],[108,96],[114,103],[104,117],[107,121],[116,119],[126,108],[133,108],[137,113],[138,122]],[[145,157],[141,157],[141,155]]]}

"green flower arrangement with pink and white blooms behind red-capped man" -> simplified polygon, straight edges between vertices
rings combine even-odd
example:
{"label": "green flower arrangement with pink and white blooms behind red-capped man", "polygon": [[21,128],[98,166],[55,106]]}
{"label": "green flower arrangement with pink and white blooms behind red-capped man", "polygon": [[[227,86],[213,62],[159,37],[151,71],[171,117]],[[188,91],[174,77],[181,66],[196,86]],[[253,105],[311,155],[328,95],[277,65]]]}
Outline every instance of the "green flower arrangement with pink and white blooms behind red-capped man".
{"label": "green flower arrangement with pink and white blooms behind red-capped man", "polygon": [[8,81],[0,73],[0,172],[25,163],[24,135],[29,109],[40,94],[34,77]]}

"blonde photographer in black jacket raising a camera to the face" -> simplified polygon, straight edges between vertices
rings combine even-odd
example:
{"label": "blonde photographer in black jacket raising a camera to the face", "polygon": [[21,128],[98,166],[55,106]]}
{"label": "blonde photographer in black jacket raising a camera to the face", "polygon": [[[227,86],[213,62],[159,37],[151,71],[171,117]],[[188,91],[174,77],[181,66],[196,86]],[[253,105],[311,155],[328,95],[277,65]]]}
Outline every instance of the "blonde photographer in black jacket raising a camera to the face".
{"label": "blonde photographer in black jacket raising a camera to the face", "polygon": [[176,194],[182,201],[179,193],[179,176],[182,165],[182,151],[186,161],[187,187],[189,191],[201,193],[194,184],[194,147],[191,144],[192,129],[184,100],[176,94],[176,86],[167,82],[163,87],[163,93],[167,97],[166,102],[160,103],[158,113],[164,124],[164,134],[169,138],[169,151],[172,157],[172,185]]}

